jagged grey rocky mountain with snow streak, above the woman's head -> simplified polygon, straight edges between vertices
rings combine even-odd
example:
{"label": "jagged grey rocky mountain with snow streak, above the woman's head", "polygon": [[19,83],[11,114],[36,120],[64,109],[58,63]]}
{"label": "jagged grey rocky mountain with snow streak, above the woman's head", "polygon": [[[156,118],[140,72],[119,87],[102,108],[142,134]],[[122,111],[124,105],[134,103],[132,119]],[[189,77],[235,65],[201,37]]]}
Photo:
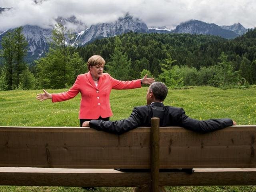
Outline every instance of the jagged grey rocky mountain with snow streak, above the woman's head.
{"label": "jagged grey rocky mountain with snow streak, above the woman's head", "polygon": [[124,18],[109,23],[101,23],[90,26],[72,39],[73,46],[82,46],[95,39],[112,37],[129,31],[138,33],[148,33],[147,25],[138,18],[133,18],[126,14]]}

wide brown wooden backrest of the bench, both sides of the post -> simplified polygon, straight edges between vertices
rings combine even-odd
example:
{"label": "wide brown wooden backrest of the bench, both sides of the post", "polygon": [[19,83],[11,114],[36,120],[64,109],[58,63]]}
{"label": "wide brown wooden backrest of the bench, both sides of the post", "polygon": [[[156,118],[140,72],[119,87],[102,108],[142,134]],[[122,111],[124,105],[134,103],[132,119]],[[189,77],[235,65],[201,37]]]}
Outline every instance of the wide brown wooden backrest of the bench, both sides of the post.
{"label": "wide brown wooden backrest of the bench, both sides of the post", "polygon": [[[256,168],[256,126],[208,134],[160,128],[160,168]],[[150,168],[150,128],[0,127],[0,166]]]}

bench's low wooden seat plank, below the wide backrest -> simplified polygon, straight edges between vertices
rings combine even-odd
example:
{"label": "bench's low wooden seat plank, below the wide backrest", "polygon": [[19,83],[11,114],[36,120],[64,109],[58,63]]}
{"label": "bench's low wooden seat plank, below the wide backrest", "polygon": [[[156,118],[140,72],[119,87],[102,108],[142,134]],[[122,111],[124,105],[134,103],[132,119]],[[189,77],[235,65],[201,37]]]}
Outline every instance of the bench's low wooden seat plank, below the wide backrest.
{"label": "bench's low wooden seat plank, below the wide backrest", "polygon": [[[193,174],[160,172],[162,186],[256,185],[256,169],[195,169]],[[113,169],[0,168],[0,185],[138,186],[150,185],[150,172]]]}

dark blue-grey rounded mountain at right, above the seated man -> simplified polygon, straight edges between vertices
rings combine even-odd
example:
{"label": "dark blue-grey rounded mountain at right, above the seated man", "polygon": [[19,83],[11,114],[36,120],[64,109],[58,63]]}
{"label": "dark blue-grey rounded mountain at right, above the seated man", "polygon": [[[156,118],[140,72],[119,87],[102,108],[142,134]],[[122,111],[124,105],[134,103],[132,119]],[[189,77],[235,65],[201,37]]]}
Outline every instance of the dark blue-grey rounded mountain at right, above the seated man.
{"label": "dark blue-grey rounded mountain at right, above the seated man", "polygon": [[209,34],[228,39],[236,38],[239,36],[239,34],[236,34],[230,30],[223,29],[216,24],[209,24],[199,20],[189,20],[187,22],[183,22],[176,26],[176,29],[173,30],[173,33]]}

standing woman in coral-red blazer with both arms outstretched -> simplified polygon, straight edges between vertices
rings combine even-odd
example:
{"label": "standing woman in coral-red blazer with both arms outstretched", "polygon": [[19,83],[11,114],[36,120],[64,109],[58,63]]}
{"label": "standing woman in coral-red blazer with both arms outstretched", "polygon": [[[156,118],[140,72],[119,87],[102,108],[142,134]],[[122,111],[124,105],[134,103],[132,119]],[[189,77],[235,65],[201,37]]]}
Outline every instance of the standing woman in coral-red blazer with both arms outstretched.
{"label": "standing woman in coral-red blazer with both arms outstretched", "polygon": [[38,94],[40,101],[52,99],[52,102],[60,102],[74,98],[81,92],[80,103],[80,126],[84,121],[92,119],[109,120],[112,116],[110,108],[110,92],[112,89],[140,88],[142,84],[151,84],[154,78],[147,78],[147,74],[141,80],[119,81],[112,78],[108,73],[103,73],[105,60],[94,55],[88,59],[88,73],[77,76],[74,85],[67,92],[49,94],[46,90]]}

